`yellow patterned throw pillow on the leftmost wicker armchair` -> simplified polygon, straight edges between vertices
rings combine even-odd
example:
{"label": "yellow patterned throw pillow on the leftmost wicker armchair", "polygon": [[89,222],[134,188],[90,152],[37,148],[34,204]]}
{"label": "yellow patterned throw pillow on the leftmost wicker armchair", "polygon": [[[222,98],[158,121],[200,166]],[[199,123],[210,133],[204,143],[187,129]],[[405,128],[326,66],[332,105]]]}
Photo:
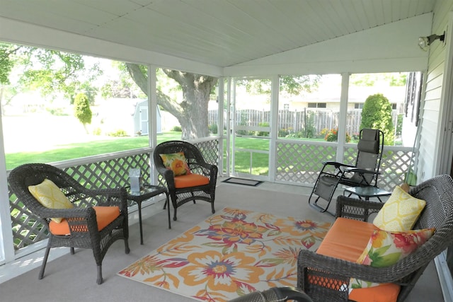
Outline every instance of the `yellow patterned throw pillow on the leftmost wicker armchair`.
{"label": "yellow patterned throw pillow on the leftmost wicker armchair", "polygon": [[[46,208],[71,209],[74,207],[52,180],[46,179],[39,185],[30,185],[28,186],[28,190]],[[52,220],[60,223],[62,218],[52,218]]]}

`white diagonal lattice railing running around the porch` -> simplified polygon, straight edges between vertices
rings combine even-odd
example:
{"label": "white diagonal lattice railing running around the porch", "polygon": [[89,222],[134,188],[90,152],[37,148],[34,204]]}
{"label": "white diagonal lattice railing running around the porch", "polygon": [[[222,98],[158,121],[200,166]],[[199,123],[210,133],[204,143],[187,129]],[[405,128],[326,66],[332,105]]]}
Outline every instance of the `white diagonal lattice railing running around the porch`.
{"label": "white diagonal lattice railing running around the porch", "polygon": [[[193,142],[209,163],[219,163],[219,139]],[[144,181],[151,180],[151,148],[125,151],[101,158],[92,156],[75,161],[55,163],[79,182],[93,187],[122,187],[128,184],[130,168],[141,168]],[[357,146],[348,144],[345,147],[345,162],[354,163]],[[411,149],[385,146],[382,156],[382,177],[379,187],[391,190],[404,180],[408,170]],[[316,182],[323,161],[336,160],[336,144],[319,141],[277,141],[275,182],[294,185],[312,186]],[[159,181],[159,180],[156,180]],[[16,196],[9,190],[11,221],[16,251],[38,243],[47,238],[42,223],[23,207]]]}

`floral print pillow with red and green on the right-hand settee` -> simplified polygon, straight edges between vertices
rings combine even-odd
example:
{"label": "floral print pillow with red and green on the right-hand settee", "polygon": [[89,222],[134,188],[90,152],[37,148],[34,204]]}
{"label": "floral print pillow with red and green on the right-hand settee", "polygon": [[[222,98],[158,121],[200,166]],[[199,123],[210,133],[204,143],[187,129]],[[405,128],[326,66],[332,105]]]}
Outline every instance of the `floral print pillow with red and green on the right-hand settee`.
{"label": "floral print pillow with red and green on the right-hand settee", "polygon": [[[423,245],[432,234],[435,228],[424,228],[406,232],[388,232],[375,229],[362,252],[357,263],[371,265],[372,267],[388,267],[394,265],[398,260],[403,259]],[[355,278],[350,279],[351,289],[378,286],[378,283],[362,281]]]}

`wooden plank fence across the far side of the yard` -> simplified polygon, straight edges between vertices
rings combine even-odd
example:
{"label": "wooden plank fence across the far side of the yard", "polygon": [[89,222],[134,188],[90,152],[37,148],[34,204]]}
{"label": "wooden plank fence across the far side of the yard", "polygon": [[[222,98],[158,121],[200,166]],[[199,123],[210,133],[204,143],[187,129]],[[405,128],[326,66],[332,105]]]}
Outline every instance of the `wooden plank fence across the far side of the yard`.
{"label": "wooden plank fence across the far side of the yard", "polygon": [[[286,132],[304,132],[310,130],[316,135],[321,134],[323,129],[333,129],[338,127],[338,117],[340,112],[331,110],[312,110],[304,108],[301,111],[278,110],[278,129]],[[392,112],[394,120],[396,113]],[[210,125],[217,124],[217,110],[210,110],[208,122]],[[224,112],[226,124],[226,112]],[[360,132],[360,122],[362,122],[362,110],[349,110],[346,115],[346,133],[351,136]],[[270,111],[264,110],[237,110],[236,124],[241,126],[258,127],[270,124]]]}

